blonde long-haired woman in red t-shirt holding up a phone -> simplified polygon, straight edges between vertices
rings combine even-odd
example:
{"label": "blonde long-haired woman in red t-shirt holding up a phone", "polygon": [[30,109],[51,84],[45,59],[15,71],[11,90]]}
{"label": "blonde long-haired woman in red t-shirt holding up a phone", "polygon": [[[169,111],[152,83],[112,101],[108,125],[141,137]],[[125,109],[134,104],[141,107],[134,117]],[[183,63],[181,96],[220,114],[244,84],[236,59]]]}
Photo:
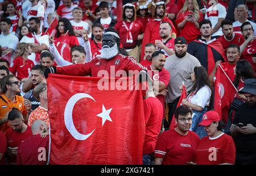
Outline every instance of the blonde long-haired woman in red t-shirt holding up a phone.
{"label": "blonde long-haired woman in red t-shirt holding up a phone", "polygon": [[203,20],[203,15],[199,10],[196,0],[186,0],[183,8],[176,18],[179,36],[183,36],[187,42],[191,42],[201,35],[199,23]]}

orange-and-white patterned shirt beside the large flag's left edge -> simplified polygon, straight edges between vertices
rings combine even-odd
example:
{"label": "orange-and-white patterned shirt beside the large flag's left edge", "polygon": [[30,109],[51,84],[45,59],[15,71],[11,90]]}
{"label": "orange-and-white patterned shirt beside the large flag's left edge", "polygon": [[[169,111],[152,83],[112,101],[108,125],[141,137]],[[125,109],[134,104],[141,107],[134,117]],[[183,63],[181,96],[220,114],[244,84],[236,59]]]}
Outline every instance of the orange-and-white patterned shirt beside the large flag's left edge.
{"label": "orange-and-white patterned shirt beside the large flag's left edge", "polygon": [[46,122],[47,126],[49,127],[48,110],[42,106],[38,106],[38,108],[31,112],[30,117],[28,118],[28,126],[31,126],[32,123],[38,119]]}

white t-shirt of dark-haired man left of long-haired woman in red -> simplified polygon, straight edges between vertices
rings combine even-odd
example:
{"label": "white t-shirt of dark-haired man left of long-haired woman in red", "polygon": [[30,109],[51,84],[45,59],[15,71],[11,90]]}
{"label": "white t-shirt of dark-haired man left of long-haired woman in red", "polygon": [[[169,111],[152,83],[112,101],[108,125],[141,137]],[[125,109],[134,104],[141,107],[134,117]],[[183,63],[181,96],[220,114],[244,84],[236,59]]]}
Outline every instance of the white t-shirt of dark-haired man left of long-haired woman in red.
{"label": "white t-shirt of dark-haired man left of long-haired woman in red", "polygon": [[[36,40],[39,42],[40,45],[46,44],[47,47],[49,48],[49,37],[48,37],[48,35],[43,35],[43,36],[41,36],[41,34],[36,35]],[[26,44],[29,44],[29,43],[34,44],[35,43],[35,38],[24,36],[24,37],[22,37],[22,40],[20,40],[20,42],[24,42]],[[40,62],[35,61],[35,53],[31,53],[31,55],[28,55],[28,59],[33,61],[35,63],[35,65],[40,64]]]}

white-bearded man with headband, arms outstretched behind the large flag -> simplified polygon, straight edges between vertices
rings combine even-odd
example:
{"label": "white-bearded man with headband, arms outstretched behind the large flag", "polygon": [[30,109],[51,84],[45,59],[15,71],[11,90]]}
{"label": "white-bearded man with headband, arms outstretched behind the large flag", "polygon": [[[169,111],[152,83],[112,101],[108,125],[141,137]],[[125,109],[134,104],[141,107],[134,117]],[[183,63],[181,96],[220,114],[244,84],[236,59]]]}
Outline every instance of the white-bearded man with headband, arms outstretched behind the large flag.
{"label": "white-bearded man with headband, arms outstretched behind the large flag", "polygon": [[73,75],[73,76],[86,76],[92,77],[103,77],[102,71],[110,75],[110,70],[114,74],[123,70],[128,74],[131,71],[143,71],[147,70],[141,64],[137,63],[133,57],[125,56],[120,53],[119,48],[120,38],[115,32],[106,31],[102,40],[102,49],[100,57],[96,57],[88,63],[78,63],[76,65],[69,65],[64,67],[51,67],[46,68],[44,75],[46,78],[49,73],[62,74],[62,75]]}

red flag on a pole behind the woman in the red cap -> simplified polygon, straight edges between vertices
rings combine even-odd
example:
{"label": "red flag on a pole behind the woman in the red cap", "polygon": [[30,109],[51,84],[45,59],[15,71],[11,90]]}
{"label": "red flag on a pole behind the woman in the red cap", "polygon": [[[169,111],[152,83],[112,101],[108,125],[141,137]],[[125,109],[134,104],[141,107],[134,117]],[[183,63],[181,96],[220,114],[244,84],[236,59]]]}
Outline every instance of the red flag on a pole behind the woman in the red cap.
{"label": "red flag on a pole behind the woman in the red cap", "polygon": [[228,122],[228,109],[237,93],[237,89],[221,66],[218,66],[215,78],[214,110],[220,115],[221,120],[226,123]]}

